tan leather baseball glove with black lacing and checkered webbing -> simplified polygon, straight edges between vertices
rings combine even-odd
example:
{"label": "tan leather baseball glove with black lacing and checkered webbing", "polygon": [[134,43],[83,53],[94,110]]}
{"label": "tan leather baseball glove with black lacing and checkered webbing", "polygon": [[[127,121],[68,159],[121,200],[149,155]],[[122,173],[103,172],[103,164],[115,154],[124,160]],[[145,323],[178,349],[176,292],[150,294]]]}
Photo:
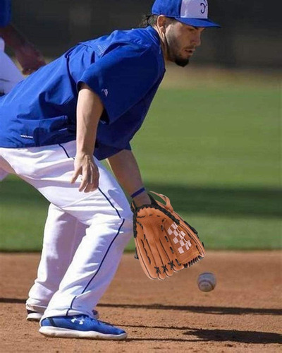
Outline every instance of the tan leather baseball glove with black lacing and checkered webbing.
{"label": "tan leather baseball glove with black lacing and checkered webbing", "polygon": [[173,211],[169,198],[154,194],[165,204],[152,195],[151,205],[137,208],[134,202],[131,204],[135,257],[150,279],[164,280],[202,260],[205,251],[197,231]]}

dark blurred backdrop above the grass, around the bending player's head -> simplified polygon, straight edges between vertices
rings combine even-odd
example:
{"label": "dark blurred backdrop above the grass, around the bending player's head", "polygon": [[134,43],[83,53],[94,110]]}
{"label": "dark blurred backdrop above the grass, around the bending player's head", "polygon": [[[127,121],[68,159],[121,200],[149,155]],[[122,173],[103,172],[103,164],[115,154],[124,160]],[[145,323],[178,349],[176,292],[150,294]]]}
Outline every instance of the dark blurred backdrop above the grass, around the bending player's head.
{"label": "dark blurred backdrop above the grass, around the bending player's head", "polygon": [[[46,56],[115,29],[130,29],[149,13],[152,0],[13,0],[13,23]],[[281,1],[210,0],[209,16],[222,30],[205,33],[198,64],[279,68]],[[280,50],[279,50],[280,49]]]}

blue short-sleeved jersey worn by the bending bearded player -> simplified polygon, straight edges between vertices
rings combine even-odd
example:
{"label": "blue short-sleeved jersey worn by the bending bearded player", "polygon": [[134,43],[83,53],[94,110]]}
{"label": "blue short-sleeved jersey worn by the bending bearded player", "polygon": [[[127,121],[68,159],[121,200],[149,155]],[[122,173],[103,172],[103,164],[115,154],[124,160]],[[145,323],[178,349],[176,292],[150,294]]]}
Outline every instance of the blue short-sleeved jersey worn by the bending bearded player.
{"label": "blue short-sleeved jersey worn by the bending bearded player", "polygon": [[82,42],[0,98],[0,147],[75,140],[78,90],[86,83],[104,104],[94,155],[102,160],[130,149],[164,72],[152,27]]}

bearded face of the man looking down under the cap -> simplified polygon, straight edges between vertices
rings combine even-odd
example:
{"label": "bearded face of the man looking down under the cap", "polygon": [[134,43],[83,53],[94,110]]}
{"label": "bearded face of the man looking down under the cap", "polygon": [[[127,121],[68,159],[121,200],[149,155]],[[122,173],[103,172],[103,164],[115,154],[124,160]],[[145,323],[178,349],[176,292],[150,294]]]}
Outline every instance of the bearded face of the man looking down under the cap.
{"label": "bearded face of the man looking down under the cap", "polygon": [[201,44],[203,30],[204,28],[185,25],[177,20],[170,23],[166,28],[168,60],[178,66],[188,65],[196,47]]}

